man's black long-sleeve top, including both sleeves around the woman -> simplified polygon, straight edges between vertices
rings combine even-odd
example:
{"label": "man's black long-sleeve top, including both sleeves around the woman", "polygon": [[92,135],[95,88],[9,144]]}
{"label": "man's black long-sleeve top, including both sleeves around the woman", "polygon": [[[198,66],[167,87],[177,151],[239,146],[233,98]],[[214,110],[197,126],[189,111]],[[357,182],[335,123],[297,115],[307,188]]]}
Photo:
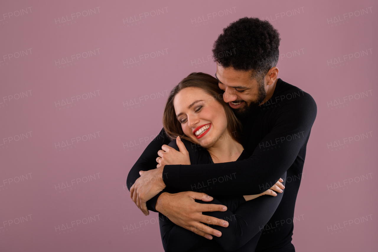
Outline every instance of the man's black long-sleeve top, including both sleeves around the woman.
{"label": "man's black long-sleeve top, including both sleeves around the woman", "polygon": [[[183,191],[201,191],[214,195],[251,195],[268,190],[287,171],[286,192],[271,219],[274,220],[273,226],[269,227],[273,229],[276,226],[278,229],[277,225],[281,225],[280,230],[276,231],[277,244],[272,243],[270,235],[269,246],[282,246],[282,243],[291,241],[293,224],[286,223],[288,221],[285,222],[286,225],[275,223],[281,223],[282,219],[293,219],[307,141],[316,112],[316,103],[311,95],[278,79],[272,98],[256,107],[242,120],[242,144],[251,154],[249,159],[206,165],[166,165],[163,170],[164,183]],[[129,190],[138,179],[139,171],[156,168],[157,152],[162,145],[169,142],[170,139],[162,129],[130,170],[127,177]],[[156,201],[161,193],[147,202],[149,210],[156,212]],[[265,230],[266,235],[268,234],[267,229],[266,226],[262,227],[260,240],[263,241]]]}

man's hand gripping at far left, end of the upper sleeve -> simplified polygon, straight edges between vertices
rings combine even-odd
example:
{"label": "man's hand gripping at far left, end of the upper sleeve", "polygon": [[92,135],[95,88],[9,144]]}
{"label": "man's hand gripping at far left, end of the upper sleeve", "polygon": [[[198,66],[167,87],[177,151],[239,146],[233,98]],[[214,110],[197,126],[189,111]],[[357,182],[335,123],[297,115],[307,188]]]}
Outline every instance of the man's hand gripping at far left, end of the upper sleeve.
{"label": "man's hand gripping at far left, end of the upper sleeve", "polygon": [[166,187],[163,181],[163,167],[139,171],[141,175],[130,188],[130,197],[144,215],[149,215],[146,202]]}

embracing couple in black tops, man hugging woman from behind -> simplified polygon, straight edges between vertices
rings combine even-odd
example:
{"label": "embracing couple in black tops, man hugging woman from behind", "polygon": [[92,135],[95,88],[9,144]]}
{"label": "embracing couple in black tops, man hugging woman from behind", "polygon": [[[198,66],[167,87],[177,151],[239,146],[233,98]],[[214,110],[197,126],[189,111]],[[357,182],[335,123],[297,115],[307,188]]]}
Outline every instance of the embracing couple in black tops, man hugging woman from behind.
{"label": "embracing couple in black tops, man hugging woman from behind", "polygon": [[171,91],[164,128],[127,177],[144,215],[159,212],[166,252],[295,251],[317,109],[277,78],[279,43],[268,21],[239,19],[214,42],[215,77],[191,73]]}

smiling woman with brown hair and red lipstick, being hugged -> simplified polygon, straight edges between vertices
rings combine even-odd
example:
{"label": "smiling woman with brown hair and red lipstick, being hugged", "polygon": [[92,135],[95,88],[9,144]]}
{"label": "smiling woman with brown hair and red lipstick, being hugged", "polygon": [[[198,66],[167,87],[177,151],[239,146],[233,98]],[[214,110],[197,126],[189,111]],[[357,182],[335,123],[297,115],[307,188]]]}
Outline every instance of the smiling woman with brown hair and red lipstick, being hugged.
{"label": "smiling woman with brown hair and red lipstick, being hugged", "polygon": [[[175,140],[169,146],[163,145],[163,151],[159,151],[157,166],[222,163],[247,159],[250,156],[240,144],[241,124],[228,104],[223,102],[222,93],[217,79],[205,73],[191,73],[172,90],[164,110],[163,125],[167,135]],[[175,163],[169,156],[169,148],[180,150],[186,156],[186,162]],[[286,178],[286,173],[283,177]],[[232,179],[232,176],[225,177],[227,179]],[[222,182],[213,183],[213,186],[224,186]],[[279,187],[284,188],[277,182],[271,189],[282,192]],[[196,185],[194,188],[199,190]],[[175,188],[166,189],[170,193],[179,192]],[[261,230],[282,198],[281,194],[279,197],[265,196],[256,199],[264,194],[277,196],[272,190],[268,190],[258,195],[214,196],[211,202],[197,201],[203,204],[226,205],[228,208],[225,212],[203,213],[229,222],[228,227],[211,225],[222,232],[221,237],[214,237],[213,240],[207,240],[177,226],[159,213],[164,250],[254,251]],[[251,199],[255,200],[252,202]]]}

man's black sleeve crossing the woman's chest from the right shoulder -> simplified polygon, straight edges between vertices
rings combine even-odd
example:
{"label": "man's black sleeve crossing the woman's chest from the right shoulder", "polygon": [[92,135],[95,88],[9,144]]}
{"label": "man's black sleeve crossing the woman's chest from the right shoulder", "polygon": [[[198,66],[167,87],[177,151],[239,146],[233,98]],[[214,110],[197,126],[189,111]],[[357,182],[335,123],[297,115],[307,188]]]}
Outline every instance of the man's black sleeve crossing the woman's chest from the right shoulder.
{"label": "man's black sleeve crossing the woman's chest from the right shoulder", "polygon": [[[249,195],[267,190],[293,164],[314,123],[316,103],[309,94],[301,92],[303,95],[280,106],[272,119],[271,131],[248,159],[191,166],[166,165],[163,173],[169,176],[164,183],[183,191],[205,184],[209,185],[206,193],[215,195]],[[266,188],[266,185],[270,186]]]}

